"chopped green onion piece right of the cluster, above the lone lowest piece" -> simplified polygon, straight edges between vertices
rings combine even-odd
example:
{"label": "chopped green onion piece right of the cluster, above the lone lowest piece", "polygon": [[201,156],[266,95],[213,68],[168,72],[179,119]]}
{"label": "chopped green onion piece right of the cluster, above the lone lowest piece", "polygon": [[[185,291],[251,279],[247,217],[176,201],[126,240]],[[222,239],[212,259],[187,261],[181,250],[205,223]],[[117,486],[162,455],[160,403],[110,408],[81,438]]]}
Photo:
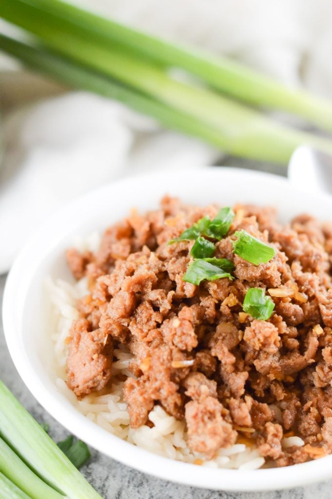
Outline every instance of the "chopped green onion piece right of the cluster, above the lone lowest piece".
{"label": "chopped green onion piece right of the cluster, above the lone lowest piece", "polygon": [[232,241],[233,252],[244,260],[259,265],[270,261],[276,254],[276,250],[271,246],[263,243],[254,236],[251,236],[246,231],[237,231],[234,234],[237,237],[236,241]]}

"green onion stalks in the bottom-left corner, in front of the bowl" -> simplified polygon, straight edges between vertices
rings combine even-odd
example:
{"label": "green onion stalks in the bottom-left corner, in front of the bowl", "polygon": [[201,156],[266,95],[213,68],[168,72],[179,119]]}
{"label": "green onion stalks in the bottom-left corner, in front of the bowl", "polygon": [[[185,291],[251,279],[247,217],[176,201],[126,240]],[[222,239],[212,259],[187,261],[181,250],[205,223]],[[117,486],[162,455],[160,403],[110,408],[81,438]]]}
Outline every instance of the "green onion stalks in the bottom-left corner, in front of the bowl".
{"label": "green onion stalks in the bottom-left corner, in front of the bowl", "polygon": [[[71,450],[73,460],[82,463],[79,441],[73,444],[69,438],[60,447]],[[1,381],[0,497],[101,499]]]}

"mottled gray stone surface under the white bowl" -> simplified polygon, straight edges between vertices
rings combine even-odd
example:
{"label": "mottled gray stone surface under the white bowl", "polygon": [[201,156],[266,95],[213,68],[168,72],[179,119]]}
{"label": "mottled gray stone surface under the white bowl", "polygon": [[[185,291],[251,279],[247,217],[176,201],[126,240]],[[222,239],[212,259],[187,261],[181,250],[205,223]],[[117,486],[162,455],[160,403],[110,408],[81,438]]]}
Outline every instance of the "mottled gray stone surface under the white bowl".
{"label": "mottled gray stone surface under the white bowl", "polygon": [[[234,164],[232,160],[227,162]],[[246,165],[244,165],[246,166]],[[248,168],[251,164],[248,163]],[[264,168],[265,170],[272,170]],[[284,173],[273,169],[276,173]],[[5,284],[5,276],[0,276],[0,302]],[[29,393],[18,376],[9,357],[3,337],[2,319],[0,314],[0,379],[8,386],[20,402],[28,409],[40,423],[46,422],[50,426],[50,435],[58,441],[67,435],[51,416],[44,411]],[[103,456],[93,450],[92,458],[82,473],[104,499],[330,499],[332,498],[332,481],[326,484],[317,484],[306,488],[290,491],[276,491],[266,493],[227,493],[201,490],[186,487],[171,482],[165,482],[149,475],[145,475],[116,461]],[[45,498],[47,499],[47,498]]]}

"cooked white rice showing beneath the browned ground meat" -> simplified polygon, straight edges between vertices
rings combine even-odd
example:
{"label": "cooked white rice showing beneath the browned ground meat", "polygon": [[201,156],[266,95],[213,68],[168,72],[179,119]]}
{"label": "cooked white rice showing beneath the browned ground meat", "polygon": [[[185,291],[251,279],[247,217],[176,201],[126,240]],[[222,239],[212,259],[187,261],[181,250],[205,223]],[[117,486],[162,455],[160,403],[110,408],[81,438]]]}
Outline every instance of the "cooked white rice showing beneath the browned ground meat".
{"label": "cooked white rice showing beneath the browned ground meat", "polygon": [[[89,240],[77,242],[80,250],[96,250],[99,244],[97,235]],[[217,456],[207,461],[203,454],[192,452],[187,446],[186,427],[183,421],[169,416],[162,407],[156,405],[149,413],[149,420],[153,423],[150,428],[143,425],[138,429],[129,426],[129,414],[123,400],[123,381],[117,379],[117,374],[132,376],[128,370],[131,354],[121,347],[114,350],[116,361],[113,363],[113,384],[111,393],[98,393],[85,396],[78,400],[65,383],[65,363],[67,357],[66,338],[72,320],[77,318],[75,308],[76,300],[88,293],[85,278],[71,284],[61,279],[48,278],[46,287],[51,303],[52,324],[50,334],[54,341],[54,360],[58,379],[58,389],[63,395],[89,420],[104,428],[109,433],[116,435],[128,442],[147,449],[155,454],[178,461],[195,463],[208,468],[232,468],[240,470],[255,470],[261,468],[265,460],[255,447],[244,444],[235,444],[229,449],[221,449]],[[294,444],[294,439],[284,439],[284,447]],[[293,439],[291,441],[291,439]],[[299,439],[301,440],[301,439]],[[291,443],[290,443],[291,441]]]}

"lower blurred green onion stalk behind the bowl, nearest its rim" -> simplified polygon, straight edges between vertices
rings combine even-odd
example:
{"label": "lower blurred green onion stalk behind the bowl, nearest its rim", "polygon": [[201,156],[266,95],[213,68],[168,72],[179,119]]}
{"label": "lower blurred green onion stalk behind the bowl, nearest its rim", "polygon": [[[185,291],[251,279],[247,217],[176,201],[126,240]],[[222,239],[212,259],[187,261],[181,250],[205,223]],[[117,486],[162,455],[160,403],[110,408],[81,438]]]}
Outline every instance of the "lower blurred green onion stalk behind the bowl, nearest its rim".
{"label": "lower blurred green onion stalk behind the bowl, nearest its rim", "polygon": [[[89,32],[70,30],[59,16],[23,0],[1,0],[0,15],[36,35],[48,51],[54,52],[52,62],[59,57],[61,71],[58,74],[53,70],[58,79],[110,97],[116,94],[115,98],[123,102],[127,99],[129,106],[157,117],[162,124],[228,153],[277,163],[287,163],[302,143],[332,153],[332,143],[326,139],[279,125],[211,89],[177,81],[160,65],[135,58],[119,44],[105,46]],[[1,36],[0,49],[41,71],[52,72],[43,57],[47,51],[38,47],[32,57],[24,44],[14,45],[13,40]],[[38,60],[39,54],[42,60]],[[78,75],[77,71],[83,72]],[[103,83],[98,77],[105,79]]]}

